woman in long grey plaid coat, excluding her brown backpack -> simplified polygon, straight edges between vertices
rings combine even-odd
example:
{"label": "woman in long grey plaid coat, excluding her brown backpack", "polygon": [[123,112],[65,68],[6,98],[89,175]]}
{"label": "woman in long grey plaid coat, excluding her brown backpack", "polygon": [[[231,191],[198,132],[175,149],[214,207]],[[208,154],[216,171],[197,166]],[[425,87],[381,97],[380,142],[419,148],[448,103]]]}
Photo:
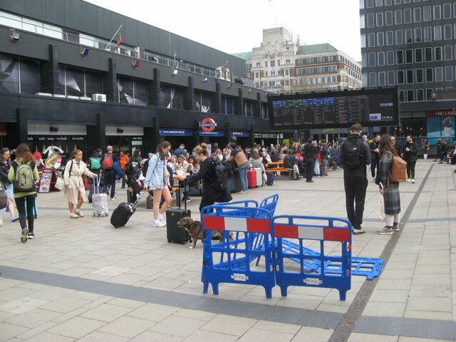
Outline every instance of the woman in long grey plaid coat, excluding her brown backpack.
{"label": "woman in long grey plaid coat, excluding her brown backpack", "polygon": [[380,195],[385,199],[385,227],[379,229],[377,234],[393,234],[399,232],[399,214],[400,214],[400,193],[399,183],[388,180],[390,170],[393,167],[393,157],[397,156],[395,147],[388,134],[382,135],[379,143],[380,162],[378,162],[377,177],[375,184],[380,186]]}

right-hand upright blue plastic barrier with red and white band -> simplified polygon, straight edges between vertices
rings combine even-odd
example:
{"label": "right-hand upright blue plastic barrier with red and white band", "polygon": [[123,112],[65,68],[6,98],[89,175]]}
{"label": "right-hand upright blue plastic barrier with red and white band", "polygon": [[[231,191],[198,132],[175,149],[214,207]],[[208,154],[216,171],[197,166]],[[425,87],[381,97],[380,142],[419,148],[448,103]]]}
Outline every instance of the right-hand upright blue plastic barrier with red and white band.
{"label": "right-hand upright blue plastic barrier with red and white band", "polygon": [[[324,224],[311,221],[323,221]],[[350,222],[334,217],[281,215],[274,217],[273,236],[276,241],[276,284],[280,286],[282,296],[286,296],[288,286],[311,286],[338,289],[341,301],[346,299],[346,292],[351,289]],[[299,248],[284,248],[285,238],[297,239]],[[309,253],[304,247],[308,240],[319,241],[321,252]],[[340,242],[341,254],[326,254],[325,242]],[[298,261],[298,267],[290,261]],[[326,265],[328,261],[340,264],[340,273],[328,272],[326,267],[306,268],[309,262]]]}

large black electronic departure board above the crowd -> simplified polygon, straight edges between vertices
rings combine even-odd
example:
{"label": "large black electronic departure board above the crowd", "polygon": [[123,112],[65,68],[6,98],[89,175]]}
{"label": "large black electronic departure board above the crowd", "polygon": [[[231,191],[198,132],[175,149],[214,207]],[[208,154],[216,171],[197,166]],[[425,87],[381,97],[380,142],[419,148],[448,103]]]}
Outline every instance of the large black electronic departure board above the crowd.
{"label": "large black electronic departure board above the crowd", "polygon": [[398,88],[269,95],[272,129],[399,125]]}

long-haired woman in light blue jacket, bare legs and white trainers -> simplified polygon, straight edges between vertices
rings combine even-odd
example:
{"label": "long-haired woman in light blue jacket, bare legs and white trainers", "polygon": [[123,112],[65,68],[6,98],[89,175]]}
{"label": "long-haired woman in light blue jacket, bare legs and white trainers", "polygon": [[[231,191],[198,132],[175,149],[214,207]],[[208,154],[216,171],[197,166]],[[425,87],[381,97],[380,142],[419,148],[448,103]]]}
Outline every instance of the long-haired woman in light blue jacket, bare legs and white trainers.
{"label": "long-haired woman in light blue jacket, bare legs and white trainers", "polygon": [[145,175],[144,187],[148,187],[153,192],[155,199],[165,198],[165,202],[160,208],[160,200],[154,201],[153,213],[154,220],[153,227],[165,227],[165,214],[166,209],[171,205],[171,192],[170,192],[170,172],[167,170],[167,159],[171,150],[170,142],[162,141],[157,146],[157,153],[150,157],[147,166],[147,173]]}

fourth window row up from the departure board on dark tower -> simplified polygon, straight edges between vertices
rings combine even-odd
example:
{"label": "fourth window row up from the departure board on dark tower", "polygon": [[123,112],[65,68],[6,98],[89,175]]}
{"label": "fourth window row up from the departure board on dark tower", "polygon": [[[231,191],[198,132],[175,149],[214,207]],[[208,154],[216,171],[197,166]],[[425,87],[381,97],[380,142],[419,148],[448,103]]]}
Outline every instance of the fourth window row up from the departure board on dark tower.
{"label": "fourth window row up from the departure board on dark tower", "polygon": [[[451,19],[451,5],[443,5],[443,19]],[[456,3],[455,13],[456,13]],[[375,26],[391,26],[391,25],[401,25],[401,24],[411,24],[420,23],[421,21],[437,21],[442,19],[442,11],[440,5],[425,6],[423,9],[421,7],[415,7],[413,9],[396,9],[395,11],[385,11],[378,13],[368,13],[366,15],[361,14],[361,28],[371,28]]]}

